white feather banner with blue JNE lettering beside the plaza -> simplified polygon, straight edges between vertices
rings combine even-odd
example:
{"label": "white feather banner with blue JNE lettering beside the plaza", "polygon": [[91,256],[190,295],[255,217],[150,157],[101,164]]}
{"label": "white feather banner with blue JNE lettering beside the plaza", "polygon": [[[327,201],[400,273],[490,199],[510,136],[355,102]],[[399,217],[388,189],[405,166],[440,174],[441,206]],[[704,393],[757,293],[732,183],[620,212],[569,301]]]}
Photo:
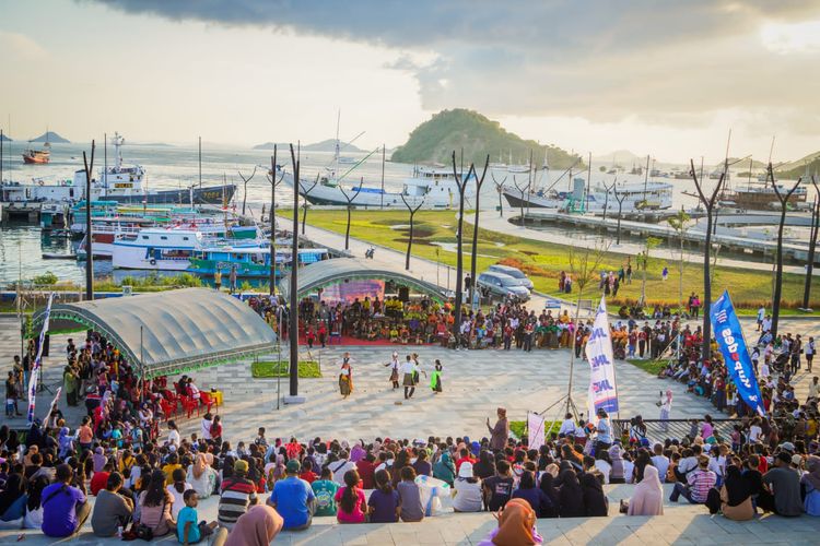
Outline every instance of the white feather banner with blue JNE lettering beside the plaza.
{"label": "white feather banner with blue JNE lettering beside the plaza", "polygon": [[614,378],[612,336],[609,332],[607,305],[602,296],[595,313],[593,333],[586,342],[586,358],[589,360],[588,418],[591,419],[600,408],[606,410],[608,414],[617,412],[618,388]]}

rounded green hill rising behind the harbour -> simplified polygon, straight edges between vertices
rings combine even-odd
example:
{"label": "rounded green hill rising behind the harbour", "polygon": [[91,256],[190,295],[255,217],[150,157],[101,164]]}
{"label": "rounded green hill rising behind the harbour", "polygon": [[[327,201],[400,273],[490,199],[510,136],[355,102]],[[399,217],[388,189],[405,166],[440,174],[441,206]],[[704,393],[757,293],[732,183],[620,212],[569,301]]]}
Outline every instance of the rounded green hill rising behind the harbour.
{"label": "rounded green hill rising behind the harbour", "polygon": [[[477,111],[456,108],[442,110],[413,129],[408,141],[393,153],[390,161],[448,165],[453,151],[460,157],[461,149],[465,164],[476,165],[483,165],[487,154],[490,154],[490,162],[497,162],[500,155],[501,161],[507,162],[511,151],[512,161],[516,164],[528,162],[529,152],[532,151],[532,162],[537,166],[543,164],[546,153],[550,167],[557,169],[567,168],[577,158],[577,155],[571,155],[560,147],[524,140]],[[583,162],[577,165],[583,166]]]}

